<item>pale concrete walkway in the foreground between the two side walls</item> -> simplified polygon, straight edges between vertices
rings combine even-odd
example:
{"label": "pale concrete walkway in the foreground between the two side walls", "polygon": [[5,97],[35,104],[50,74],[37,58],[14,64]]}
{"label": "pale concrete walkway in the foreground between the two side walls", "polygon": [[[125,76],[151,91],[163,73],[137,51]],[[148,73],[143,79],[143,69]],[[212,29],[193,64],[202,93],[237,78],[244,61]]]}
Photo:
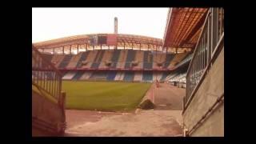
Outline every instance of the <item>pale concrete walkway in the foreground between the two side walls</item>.
{"label": "pale concrete walkway in the foreground between the two side walls", "polygon": [[142,110],[138,114],[66,110],[65,136],[171,137],[182,134],[180,110]]}

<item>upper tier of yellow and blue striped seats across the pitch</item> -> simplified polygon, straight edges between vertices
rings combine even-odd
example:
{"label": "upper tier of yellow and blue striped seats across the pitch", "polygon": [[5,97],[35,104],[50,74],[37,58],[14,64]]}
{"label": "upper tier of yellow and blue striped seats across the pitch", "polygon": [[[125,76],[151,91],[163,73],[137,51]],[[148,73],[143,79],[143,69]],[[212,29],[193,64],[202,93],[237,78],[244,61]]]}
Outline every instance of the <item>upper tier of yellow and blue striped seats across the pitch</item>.
{"label": "upper tier of yellow and blue striped seats across the pitch", "polygon": [[144,50],[88,50],[79,54],[44,54],[59,70],[172,70],[188,53]]}

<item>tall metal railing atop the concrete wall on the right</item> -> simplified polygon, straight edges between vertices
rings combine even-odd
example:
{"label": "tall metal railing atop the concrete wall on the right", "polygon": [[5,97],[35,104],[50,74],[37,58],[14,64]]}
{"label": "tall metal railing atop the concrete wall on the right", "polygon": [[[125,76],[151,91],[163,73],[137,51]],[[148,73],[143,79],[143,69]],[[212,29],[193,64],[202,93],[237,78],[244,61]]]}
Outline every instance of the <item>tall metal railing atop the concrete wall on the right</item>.
{"label": "tall metal railing atop the concrete wall on the right", "polygon": [[220,42],[224,41],[224,10],[223,8],[210,8],[206,16],[202,32],[195,46],[193,58],[186,75],[186,96],[184,106],[188,105],[191,96],[202,82],[206,69],[215,58]]}

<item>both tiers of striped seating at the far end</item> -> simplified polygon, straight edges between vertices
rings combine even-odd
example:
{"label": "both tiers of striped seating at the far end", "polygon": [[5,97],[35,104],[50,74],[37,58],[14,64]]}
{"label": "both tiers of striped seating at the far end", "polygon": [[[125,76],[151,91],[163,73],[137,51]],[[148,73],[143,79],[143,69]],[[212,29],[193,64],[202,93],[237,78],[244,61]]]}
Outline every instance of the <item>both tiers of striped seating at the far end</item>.
{"label": "both tiers of striped seating at the far end", "polygon": [[[179,53],[179,54],[165,54],[145,50],[89,50],[86,52],[80,52],[79,54],[44,54],[46,59],[51,60],[55,63],[55,66],[59,68],[66,68],[73,70],[74,68],[119,68],[119,69],[130,69],[134,70],[152,70],[161,69],[159,63],[163,63],[163,67],[168,65],[166,68],[177,68],[181,66],[180,63],[174,66],[175,61],[187,63],[190,61],[191,54],[189,53]],[[166,58],[166,59],[164,59]],[[62,59],[61,62],[59,62]],[[182,60],[183,59],[183,60]],[[92,61],[93,60],[93,61]],[[148,73],[142,73],[139,71],[134,71],[134,74],[126,73],[126,71],[106,71],[106,78],[94,78],[94,71],[90,73],[88,71],[82,70],[83,72],[75,71],[70,74],[70,72],[63,74],[64,79],[74,79],[74,80],[97,80],[105,79],[106,81],[131,81],[130,78],[134,77],[136,82],[150,82],[155,80],[166,81],[170,79],[170,72],[166,71],[154,71],[149,76]],[[75,74],[74,74],[75,73]],[[73,75],[74,74],[74,75]],[[90,74],[90,75],[88,75]],[[97,76],[98,72],[96,73]],[[72,78],[70,78],[73,75]],[[134,75],[134,76],[130,76]],[[91,78],[90,78],[91,77]]]}

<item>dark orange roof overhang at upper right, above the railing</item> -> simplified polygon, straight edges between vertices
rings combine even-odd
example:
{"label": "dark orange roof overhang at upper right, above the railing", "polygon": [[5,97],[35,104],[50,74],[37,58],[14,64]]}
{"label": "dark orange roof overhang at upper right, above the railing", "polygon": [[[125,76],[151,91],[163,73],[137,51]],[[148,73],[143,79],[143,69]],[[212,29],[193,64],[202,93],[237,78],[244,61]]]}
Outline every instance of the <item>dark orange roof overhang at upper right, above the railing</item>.
{"label": "dark orange roof overhang at upper right, above the railing", "polygon": [[163,46],[194,48],[198,41],[208,8],[170,8]]}

